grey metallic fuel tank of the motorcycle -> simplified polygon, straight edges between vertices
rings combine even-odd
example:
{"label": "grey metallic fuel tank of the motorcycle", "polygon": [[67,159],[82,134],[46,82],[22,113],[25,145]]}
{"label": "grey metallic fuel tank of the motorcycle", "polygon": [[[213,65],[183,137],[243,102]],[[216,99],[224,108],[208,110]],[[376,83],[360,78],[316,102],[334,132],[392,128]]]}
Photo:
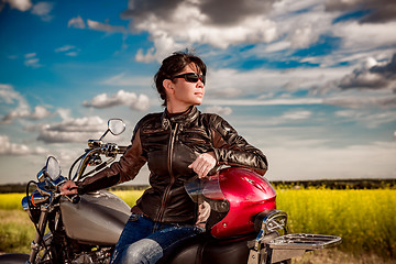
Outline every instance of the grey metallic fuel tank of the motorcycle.
{"label": "grey metallic fuel tank of the motorcycle", "polygon": [[81,243],[114,245],[131,215],[131,208],[118,196],[99,190],[82,195],[72,204],[61,200],[62,220],[69,238]]}

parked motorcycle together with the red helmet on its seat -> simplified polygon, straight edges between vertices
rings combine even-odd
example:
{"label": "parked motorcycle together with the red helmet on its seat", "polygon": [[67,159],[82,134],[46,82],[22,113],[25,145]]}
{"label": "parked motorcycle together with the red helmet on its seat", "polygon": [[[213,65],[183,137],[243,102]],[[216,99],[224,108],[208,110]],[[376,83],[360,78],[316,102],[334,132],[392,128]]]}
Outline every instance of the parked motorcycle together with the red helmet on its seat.
{"label": "parked motorcycle together with the red helmet on its seat", "polygon": [[[125,146],[102,140],[108,132],[119,135],[124,130],[122,120],[110,119],[103,135],[88,141],[68,179],[82,180],[123,154]],[[89,166],[94,168],[86,173]],[[31,253],[3,254],[0,263],[109,263],[131,208],[107,190],[62,196],[59,186],[67,178],[53,156],[36,178],[28,184],[22,200],[36,230]],[[35,189],[30,194],[31,185]],[[276,209],[275,189],[248,168],[221,168],[207,179],[186,183],[185,189],[194,201],[210,206],[207,232],[186,241],[160,263],[290,263],[307,251],[341,243],[334,235],[287,233],[287,213]]]}

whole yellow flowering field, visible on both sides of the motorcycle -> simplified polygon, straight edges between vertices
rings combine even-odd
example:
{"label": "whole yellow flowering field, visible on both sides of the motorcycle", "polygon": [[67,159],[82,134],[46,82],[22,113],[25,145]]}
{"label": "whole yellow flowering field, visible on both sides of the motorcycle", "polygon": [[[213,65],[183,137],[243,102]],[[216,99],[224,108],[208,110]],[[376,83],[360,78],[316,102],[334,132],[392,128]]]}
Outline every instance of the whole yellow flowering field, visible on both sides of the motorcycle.
{"label": "whole yellow flowering field, visible on both sides of the motorcycle", "polygon": [[[133,206],[142,190],[113,193]],[[34,228],[21,210],[23,196],[0,195],[0,252],[29,252]],[[356,255],[396,260],[394,208],[395,189],[277,189],[277,209],[287,212],[290,232],[339,235],[343,242],[338,249]]]}

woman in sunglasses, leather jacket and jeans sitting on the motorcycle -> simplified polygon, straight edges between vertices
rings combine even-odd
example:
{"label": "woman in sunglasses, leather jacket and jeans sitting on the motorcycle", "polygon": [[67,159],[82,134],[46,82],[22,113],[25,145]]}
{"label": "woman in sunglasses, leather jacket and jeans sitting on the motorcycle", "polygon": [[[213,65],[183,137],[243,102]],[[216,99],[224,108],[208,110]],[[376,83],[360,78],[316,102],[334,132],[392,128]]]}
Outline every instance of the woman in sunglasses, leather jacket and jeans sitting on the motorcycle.
{"label": "woman in sunglasses, leather jacket and jeans sitting on the motorcycle", "polygon": [[165,58],[155,84],[166,107],[144,117],[132,144],[113,163],[76,186],[67,182],[62,194],[85,194],[133,179],[147,163],[151,188],[132,208],[116,245],[112,263],[156,263],[183,240],[205,231],[209,208],[195,204],[184,184],[206,177],[218,165],[267,168],[263,153],[238,135],[222,118],[201,113],[207,67],[197,56],[174,53]]}

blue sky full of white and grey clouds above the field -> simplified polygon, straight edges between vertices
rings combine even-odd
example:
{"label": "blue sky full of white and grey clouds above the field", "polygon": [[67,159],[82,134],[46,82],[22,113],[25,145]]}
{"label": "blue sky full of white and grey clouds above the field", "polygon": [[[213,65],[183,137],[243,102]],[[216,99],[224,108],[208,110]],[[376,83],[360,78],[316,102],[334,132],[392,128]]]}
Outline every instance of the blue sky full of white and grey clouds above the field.
{"label": "blue sky full of white and grey clouds above the field", "polygon": [[[396,177],[392,0],[0,0],[0,184],[55,155],[66,175],[109,118],[128,144],[162,111],[175,51],[207,63],[204,112],[270,160],[270,180]],[[135,184],[147,183],[143,168]]]}

